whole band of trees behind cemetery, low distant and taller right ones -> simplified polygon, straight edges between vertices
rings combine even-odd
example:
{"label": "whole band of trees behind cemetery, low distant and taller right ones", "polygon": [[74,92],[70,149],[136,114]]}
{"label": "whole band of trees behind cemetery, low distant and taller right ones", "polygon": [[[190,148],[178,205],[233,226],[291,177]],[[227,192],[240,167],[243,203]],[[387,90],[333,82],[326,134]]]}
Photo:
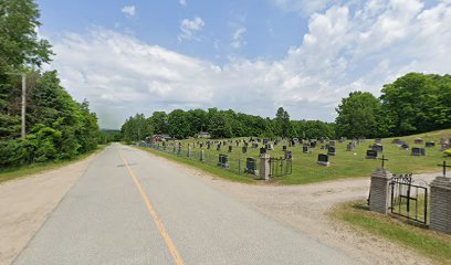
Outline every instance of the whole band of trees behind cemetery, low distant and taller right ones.
{"label": "whole band of trees behind cemetery, low distant and taller right ones", "polygon": [[262,118],[217,108],[155,112],[129,117],[120,132],[126,141],[143,140],[154,134],[177,139],[200,131],[212,138],[230,137],[347,137],[405,136],[451,128],[451,76],[407,74],[384,85],[379,98],[369,92],[352,92],[336,108],[335,123],[291,120],[282,107],[274,118]]}

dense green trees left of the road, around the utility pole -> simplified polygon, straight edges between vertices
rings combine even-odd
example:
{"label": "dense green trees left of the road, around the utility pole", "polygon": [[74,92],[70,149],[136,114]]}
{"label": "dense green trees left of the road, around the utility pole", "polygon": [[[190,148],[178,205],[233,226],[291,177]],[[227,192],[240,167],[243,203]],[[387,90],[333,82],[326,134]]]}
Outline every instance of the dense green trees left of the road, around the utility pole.
{"label": "dense green trees left of the road, around the utility pole", "polygon": [[[42,72],[53,52],[38,36],[31,0],[0,1],[0,167],[70,159],[93,150],[99,137],[90,105],[75,102],[56,71]],[[27,74],[25,137],[21,137],[21,74]]]}

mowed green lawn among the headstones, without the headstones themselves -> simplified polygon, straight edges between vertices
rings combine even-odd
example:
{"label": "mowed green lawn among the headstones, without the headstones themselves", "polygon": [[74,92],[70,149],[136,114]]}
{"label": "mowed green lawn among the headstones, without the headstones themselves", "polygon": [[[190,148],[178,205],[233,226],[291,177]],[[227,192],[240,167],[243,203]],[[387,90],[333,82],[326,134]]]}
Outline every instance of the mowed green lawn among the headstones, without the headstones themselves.
{"label": "mowed green lawn among the headstones, without the headstones themselves", "polygon": [[[401,150],[399,146],[391,144],[394,138],[382,139],[384,145],[384,155],[388,159],[386,161],[386,168],[388,168],[392,173],[422,173],[422,172],[431,172],[431,171],[440,171],[441,168],[438,166],[442,163],[443,160],[447,160],[451,165],[451,159],[443,156],[443,152],[440,151],[439,140],[441,137],[451,138],[451,129],[440,130],[440,131],[432,131],[421,135],[408,136],[408,137],[396,137],[402,140],[406,140],[410,148],[413,147],[424,147],[424,145],[413,145],[413,139],[421,138],[426,141],[434,141],[436,147],[433,148],[426,148],[426,156],[422,157],[415,157],[411,156],[411,150]],[[216,145],[211,146],[211,149],[208,150],[207,146],[204,145],[203,150],[206,157],[209,159],[208,165],[211,167],[217,167],[216,163],[218,162],[218,156],[220,153],[229,156],[229,162],[231,165],[231,169],[234,172],[238,172],[238,159],[241,157],[241,170],[245,167],[245,158],[253,157],[259,158],[260,149],[252,149],[249,147],[248,153],[244,155],[241,151],[242,146],[238,147],[234,144],[237,139],[244,139],[244,138],[234,138],[233,140],[233,151],[228,152],[228,146],[222,146],[221,151],[217,151]],[[249,139],[249,138],[245,138]],[[213,139],[211,139],[213,140]],[[229,139],[221,139],[221,140],[229,140]],[[201,162],[193,162],[198,159],[200,148],[193,147],[193,142],[198,141],[207,141],[204,139],[188,139],[181,140],[183,144],[183,151],[187,151],[187,144],[190,144],[193,152],[193,158],[189,162],[190,166],[195,166],[197,163],[201,165]],[[318,182],[325,180],[335,180],[342,178],[356,178],[356,177],[369,177],[370,173],[380,167],[380,160],[374,159],[366,159],[366,151],[369,149],[368,146],[374,145],[374,139],[367,139],[364,142],[360,142],[359,146],[356,147],[355,151],[346,151],[346,145],[349,141],[338,142],[336,141],[336,156],[331,156],[331,166],[324,167],[317,165],[317,157],[318,153],[327,153],[327,150],[321,150],[321,144],[316,148],[311,148],[310,153],[303,153],[302,145],[296,144],[295,147],[289,147],[286,141],[280,142],[274,147],[273,151],[268,151],[269,155],[272,157],[282,157],[283,151],[282,147],[284,145],[287,146],[287,149],[293,152],[293,172],[292,174],[276,177],[273,179],[275,183],[282,184],[301,184],[301,183],[311,183],[311,182]],[[169,142],[171,144],[171,142]],[[161,145],[161,144],[160,144]],[[260,147],[263,145],[260,144]],[[168,148],[169,150],[169,148]],[[172,149],[170,149],[172,150]],[[158,151],[155,151],[158,153]],[[167,156],[171,157],[171,156]],[[381,157],[381,155],[379,156]],[[183,162],[183,159],[177,159],[179,162]],[[188,160],[188,159],[186,159]],[[204,165],[201,167],[204,169]],[[229,170],[229,171],[230,171]],[[218,172],[217,170],[214,170]],[[220,177],[230,178],[230,172],[224,176],[221,173],[217,173]],[[245,176],[242,173],[241,177],[233,178],[234,181],[249,181],[251,176]]]}

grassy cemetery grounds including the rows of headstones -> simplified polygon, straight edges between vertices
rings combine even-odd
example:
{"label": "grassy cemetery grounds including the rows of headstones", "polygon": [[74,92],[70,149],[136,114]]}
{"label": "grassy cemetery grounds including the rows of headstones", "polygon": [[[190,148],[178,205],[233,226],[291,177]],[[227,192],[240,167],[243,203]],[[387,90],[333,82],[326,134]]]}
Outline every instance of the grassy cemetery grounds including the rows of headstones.
{"label": "grassy cemetery grounds including the rows of headstones", "polygon": [[[234,174],[226,178],[242,182],[265,179],[255,173],[262,172],[260,167],[263,153],[269,156],[268,160],[290,158],[291,172],[276,173],[277,176],[274,173],[269,180],[282,184],[301,184],[368,177],[378,167],[378,158],[382,156],[390,159],[392,172],[433,171],[438,161],[450,160],[443,157],[440,148],[442,145],[431,144],[442,142],[440,139],[447,134],[449,130],[375,140],[266,139],[259,137],[221,140],[186,139],[165,142],[165,145],[172,146],[165,148],[166,151],[172,150],[170,152],[172,155],[189,157],[207,166],[223,165],[220,166],[221,169]],[[189,156],[186,155],[188,146],[190,147]],[[161,142],[154,142],[154,147],[162,150]],[[223,156],[227,157],[227,162],[218,162]],[[248,158],[254,159],[254,168],[248,169]]]}

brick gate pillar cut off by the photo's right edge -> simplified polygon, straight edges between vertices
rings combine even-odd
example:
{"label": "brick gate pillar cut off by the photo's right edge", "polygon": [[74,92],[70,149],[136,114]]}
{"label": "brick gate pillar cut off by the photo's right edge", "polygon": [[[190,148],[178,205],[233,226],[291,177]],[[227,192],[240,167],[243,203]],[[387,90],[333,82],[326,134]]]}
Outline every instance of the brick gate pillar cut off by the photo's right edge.
{"label": "brick gate pillar cut off by the photo's right edge", "polygon": [[429,227],[451,234],[451,179],[437,177],[431,187],[431,219]]}

